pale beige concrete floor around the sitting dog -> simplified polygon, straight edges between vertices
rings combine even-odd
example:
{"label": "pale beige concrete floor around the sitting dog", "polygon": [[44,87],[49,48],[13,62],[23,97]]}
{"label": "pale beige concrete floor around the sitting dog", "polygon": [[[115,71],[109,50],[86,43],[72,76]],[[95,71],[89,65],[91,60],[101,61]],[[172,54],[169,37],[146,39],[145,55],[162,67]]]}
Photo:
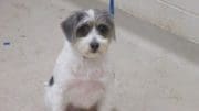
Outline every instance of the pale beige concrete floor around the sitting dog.
{"label": "pale beige concrete floor around the sitting dog", "polygon": [[[44,85],[62,48],[60,23],[95,0],[0,1],[0,111],[46,111]],[[198,111],[199,44],[117,10],[111,58],[119,111]],[[3,45],[10,42],[10,45]]]}

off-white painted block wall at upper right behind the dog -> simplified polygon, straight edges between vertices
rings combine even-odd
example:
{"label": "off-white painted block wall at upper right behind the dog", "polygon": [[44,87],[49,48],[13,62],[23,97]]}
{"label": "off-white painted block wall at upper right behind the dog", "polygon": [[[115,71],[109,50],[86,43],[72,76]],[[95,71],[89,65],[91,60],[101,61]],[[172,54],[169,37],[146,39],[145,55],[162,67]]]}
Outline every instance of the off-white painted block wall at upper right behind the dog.
{"label": "off-white painted block wall at upper right behind the dog", "polygon": [[[108,2],[108,0],[101,0]],[[199,43],[199,0],[115,0],[134,16]]]}

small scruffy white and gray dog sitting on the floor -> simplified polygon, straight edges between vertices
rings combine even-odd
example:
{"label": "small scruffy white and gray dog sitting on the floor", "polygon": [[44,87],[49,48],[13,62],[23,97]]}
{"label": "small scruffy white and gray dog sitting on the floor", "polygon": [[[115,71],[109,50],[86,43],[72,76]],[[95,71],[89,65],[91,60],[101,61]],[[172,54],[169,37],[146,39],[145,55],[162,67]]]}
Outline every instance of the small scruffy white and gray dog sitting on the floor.
{"label": "small scruffy white and gray dog sitting on the floor", "polygon": [[107,62],[113,18],[90,9],[74,12],[61,26],[66,41],[46,86],[46,102],[52,111],[98,111],[114,78]]}

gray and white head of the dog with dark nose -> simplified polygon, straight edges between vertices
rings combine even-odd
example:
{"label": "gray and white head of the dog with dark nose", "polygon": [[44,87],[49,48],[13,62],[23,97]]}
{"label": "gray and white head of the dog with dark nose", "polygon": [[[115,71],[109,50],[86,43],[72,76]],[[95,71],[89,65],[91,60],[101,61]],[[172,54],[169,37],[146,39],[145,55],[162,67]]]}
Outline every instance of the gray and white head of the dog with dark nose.
{"label": "gray and white head of the dog with dark nose", "polygon": [[105,54],[115,38],[114,20],[105,10],[74,12],[61,25],[72,47],[87,58]]}

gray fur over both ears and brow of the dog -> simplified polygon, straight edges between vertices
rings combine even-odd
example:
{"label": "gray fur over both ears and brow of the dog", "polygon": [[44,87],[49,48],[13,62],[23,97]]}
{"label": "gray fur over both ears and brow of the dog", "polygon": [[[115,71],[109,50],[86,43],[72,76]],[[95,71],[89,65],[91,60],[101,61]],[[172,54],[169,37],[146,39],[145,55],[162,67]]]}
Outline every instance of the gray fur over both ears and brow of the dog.
{"label": "gray fur over both ears and brow of the dog", "polygon": [[109,12],[106,10],[94,9],[94,21],[86,21],[85,23],[82,23],[81,21],[87,18],[88,15],[85,11],[77,11],[61,23],[62,30],[69,42],[74,42],[74,40],[76,40],[76,30],[84,24],[88,24],[91,29],[100,24],[105,24],[106,26],[108,26],[108,34],[103,36],[108,40],[115,38],[114,19],[109,14]]}

